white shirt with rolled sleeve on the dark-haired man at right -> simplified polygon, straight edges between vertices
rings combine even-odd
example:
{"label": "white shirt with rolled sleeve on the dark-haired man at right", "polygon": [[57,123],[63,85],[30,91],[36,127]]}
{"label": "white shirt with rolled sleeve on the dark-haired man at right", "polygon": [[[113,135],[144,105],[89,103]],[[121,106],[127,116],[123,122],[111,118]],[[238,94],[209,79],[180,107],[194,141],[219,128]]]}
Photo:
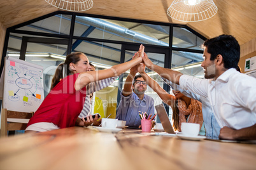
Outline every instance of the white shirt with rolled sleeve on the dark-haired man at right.
{"label": "white shirt with rolled sleeve on the dark-haired man at right", "polygon": [[236,69],[216,81],[181,75],[180,87],[207,97],[221,128],[241,129],[256,123],[256,79]]}

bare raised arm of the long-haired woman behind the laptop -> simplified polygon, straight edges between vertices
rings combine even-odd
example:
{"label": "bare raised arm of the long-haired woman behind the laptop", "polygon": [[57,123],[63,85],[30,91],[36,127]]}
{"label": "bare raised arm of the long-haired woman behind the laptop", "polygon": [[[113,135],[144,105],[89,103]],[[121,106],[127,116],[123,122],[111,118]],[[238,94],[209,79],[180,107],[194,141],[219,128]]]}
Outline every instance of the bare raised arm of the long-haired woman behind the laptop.
{"label": "bare raised arm of the long-haired woman behind the laptop", "polygon": [[153,89],[159,95],[159,97],[166,103],[167,105],[171,106],[173,101],[176,100],[175,96],[170,95],[167,93],[154,79],[152,79],[148,74],[145,72],[145,65],[141,63],[138,67],[138,71],[146,81],[148,86]]}

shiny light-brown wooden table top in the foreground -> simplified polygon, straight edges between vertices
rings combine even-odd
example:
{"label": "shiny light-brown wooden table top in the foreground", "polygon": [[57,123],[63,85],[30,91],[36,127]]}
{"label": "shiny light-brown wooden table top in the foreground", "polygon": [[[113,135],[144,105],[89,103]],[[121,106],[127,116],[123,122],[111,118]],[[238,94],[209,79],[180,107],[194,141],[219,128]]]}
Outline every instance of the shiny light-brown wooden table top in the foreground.
{"label": "shiny light-brown wooden table top in the foreground", "polygon": [[256,145],[66,128],[0,139],[0,169],[255,169]]}

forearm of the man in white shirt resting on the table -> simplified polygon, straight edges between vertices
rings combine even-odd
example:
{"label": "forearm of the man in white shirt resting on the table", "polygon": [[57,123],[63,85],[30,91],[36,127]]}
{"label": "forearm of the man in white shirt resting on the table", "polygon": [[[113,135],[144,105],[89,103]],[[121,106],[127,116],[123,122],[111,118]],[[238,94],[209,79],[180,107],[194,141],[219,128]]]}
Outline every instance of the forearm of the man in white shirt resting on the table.
{"label": "forearm of the man in white shirt resting on the table", "polygon": [[220,129],[218,138],[222,140],[256,140],[256,124],[239,130],[225,126]]}

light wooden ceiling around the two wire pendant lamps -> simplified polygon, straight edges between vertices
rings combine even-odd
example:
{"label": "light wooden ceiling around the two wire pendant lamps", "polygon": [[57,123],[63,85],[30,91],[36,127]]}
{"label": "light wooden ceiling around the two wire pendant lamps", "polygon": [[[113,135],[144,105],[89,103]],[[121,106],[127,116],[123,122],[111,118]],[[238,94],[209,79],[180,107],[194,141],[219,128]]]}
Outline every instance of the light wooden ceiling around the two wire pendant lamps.
{"label": "light wooden ceiling around the two wire pendant lamps", "polygon": [[[82,13],[181,23],[207,38],[231,34],[238,39],[239,44],[244,44],[256,37],[255,0],[214,1],[218,7],[217,15],[201,22],[184,23],[172,20],[166,11],[173,0],[94,0],[94,6]],[[1,0],[0,22],[3,27],[8,28],[57,10],[45,0]]]}

